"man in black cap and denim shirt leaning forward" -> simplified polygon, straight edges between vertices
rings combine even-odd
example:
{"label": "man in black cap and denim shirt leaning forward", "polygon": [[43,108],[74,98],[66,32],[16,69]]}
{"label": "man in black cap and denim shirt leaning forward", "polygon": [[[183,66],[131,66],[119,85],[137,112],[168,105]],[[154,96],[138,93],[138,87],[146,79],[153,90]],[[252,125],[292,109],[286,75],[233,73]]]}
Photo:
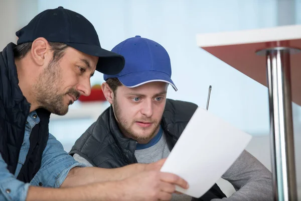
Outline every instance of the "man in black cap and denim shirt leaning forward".
{"label": "man in black cap and denim shirt leaning forward", "polygon": [[124,66],[121,55],[100,47],[87,19],[59,7],[16,34],[17,45],[0,52],[0,200],[168,200],[175,185],[187,187],[159,171],[164,160],[85,167],[49,134],[50,114],[65,115],[89,95],[95,69],[116,74]]}

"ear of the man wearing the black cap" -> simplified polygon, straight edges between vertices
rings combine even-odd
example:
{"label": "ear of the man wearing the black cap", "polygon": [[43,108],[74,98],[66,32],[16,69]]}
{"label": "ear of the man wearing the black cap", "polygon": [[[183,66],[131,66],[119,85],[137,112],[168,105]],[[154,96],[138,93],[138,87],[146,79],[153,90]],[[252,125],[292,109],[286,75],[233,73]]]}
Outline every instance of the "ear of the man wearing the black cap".
{"label": "ear of the man wearing the black cap", "polygon": [[34,40],[31,49],[31,55],[33,61],[39,65],[43,66],[45,63],[49,63],[52,58],[51,47],[45,38],[37,38]]}

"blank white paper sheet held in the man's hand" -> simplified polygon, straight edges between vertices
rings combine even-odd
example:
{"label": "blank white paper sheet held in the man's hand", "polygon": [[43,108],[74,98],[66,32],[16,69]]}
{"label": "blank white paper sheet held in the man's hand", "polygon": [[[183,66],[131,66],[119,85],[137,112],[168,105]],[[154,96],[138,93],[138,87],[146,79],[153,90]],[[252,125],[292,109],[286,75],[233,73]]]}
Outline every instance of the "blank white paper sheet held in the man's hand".
{"label": "blank white paper sheet held in the man's hand", "polygon": [[229,169],[251,136],[198,108],[168,156],[161,171],[171,172],[189,183],[177,191],[200,197]]}

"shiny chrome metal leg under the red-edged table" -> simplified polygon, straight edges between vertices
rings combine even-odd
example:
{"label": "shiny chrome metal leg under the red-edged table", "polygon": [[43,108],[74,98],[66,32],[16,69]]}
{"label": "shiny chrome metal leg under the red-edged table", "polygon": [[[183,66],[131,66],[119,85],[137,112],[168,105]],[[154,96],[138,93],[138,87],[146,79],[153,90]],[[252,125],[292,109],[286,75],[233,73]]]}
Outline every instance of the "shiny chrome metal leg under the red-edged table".
{"label": "shiny chrome metal leg under the red-edged table", "polygon": [[278,47],[260,50],[266,56],[274,200],[297,200],[291,111],[290,53]]}

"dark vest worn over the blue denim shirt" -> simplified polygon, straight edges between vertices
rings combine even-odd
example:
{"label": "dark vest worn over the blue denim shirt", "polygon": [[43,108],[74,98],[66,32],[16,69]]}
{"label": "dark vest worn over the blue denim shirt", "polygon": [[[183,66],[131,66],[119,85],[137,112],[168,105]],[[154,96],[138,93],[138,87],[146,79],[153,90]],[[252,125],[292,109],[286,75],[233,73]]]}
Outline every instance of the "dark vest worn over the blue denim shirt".
{"label": "dark vest worn over the blue denim shirt", "polygon": [[[0,153],[12,174],[15,174],[17,168],[25,124],[30,111],[30,104],[18,85],[14,47],[16,45],[10,43],[3,52],[0,52]],[[24,182],[30,182],[39,171],[49,137],[50,113],[44,109],[38,109],[36,112],[40,123],[32,129],[30,149],[17,177]]]}

